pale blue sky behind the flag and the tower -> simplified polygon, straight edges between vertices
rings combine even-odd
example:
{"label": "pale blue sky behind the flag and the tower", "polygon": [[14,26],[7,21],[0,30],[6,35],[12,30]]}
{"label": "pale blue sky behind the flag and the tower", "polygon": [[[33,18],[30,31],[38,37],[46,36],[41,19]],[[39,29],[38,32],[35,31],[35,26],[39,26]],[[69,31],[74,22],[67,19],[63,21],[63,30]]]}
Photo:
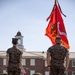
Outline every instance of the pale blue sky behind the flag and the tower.
{"label": "pale blue sky behind the flag and the tower", "polygon": [[[70,44],[75,52],[75,0],[58,0]],[[45,36],[54,0],[0,0],[0,51],[12,46],[11,40],[18,31],[22,33],[26,51],[47,51],[52,46]]]}

